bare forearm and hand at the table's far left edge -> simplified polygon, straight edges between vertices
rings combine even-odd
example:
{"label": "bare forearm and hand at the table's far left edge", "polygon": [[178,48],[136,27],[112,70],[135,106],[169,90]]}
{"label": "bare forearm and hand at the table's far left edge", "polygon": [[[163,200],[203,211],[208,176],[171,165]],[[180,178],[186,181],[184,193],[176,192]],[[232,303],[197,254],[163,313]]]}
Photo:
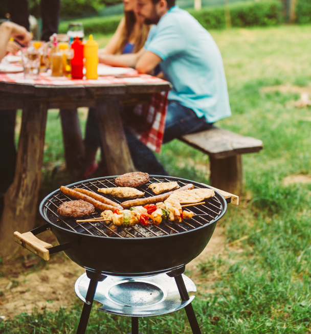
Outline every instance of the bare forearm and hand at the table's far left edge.
{"label": "bare forearm and hand at the table's far left edge", "polygon": [[24,27],[12,22],[4,22],[0,26],[0,61],[7,53],[7,44],[11,37],[24,45],[32,39],[32,35]]}

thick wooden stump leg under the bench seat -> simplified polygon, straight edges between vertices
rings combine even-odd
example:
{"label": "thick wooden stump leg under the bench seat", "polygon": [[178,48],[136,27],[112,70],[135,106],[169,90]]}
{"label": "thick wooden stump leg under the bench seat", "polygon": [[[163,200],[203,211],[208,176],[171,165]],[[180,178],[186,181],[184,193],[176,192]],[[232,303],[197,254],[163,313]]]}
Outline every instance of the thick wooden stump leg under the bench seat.
{"label": "thick wooden stump leg under the bench seat", "polygon": [[210,157],[211,185],[215,188],[241,195],[243,190],[242,155],[215,159]]}

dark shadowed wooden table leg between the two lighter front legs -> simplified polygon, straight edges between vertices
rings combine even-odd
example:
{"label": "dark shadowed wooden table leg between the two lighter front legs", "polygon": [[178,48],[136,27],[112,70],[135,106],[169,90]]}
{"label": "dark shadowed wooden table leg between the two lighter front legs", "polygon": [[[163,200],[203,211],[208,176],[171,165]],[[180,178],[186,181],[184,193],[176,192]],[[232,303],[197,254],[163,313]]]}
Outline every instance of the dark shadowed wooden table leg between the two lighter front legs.
{"label": "dark shadowed wooden table leg between the two lighter front legs", "polygon": [[80,171],[84,145],[77,109],[60,109],[62,139],[68,169]]}

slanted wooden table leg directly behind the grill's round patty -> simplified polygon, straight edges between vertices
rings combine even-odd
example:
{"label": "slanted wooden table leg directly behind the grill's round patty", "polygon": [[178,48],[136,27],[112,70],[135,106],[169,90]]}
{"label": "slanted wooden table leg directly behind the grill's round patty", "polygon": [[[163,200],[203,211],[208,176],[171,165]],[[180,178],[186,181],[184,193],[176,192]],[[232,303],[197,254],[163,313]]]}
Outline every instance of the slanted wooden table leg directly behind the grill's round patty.
{"label": "slanted wooden table leg directly behind the grill's round patty", "polygon": [[126,142],[118,101],[98,101],[97,120],[108,173],[119,175],[136,171]]}

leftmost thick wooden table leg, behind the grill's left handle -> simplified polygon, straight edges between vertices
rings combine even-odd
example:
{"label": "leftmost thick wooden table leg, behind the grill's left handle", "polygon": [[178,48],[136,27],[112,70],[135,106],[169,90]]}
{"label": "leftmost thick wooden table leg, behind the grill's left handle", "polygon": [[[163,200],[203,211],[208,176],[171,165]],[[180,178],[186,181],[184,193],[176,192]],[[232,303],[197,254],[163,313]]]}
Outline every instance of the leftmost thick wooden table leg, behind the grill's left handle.
{"label": "leftmost thick wooden table leg, behind the grill's left handle", "polygon": [[0,253],[5,257],[19,247],[13,233],[28,232],[35,224],[47,111],[47,103],[38,102],[26,104],[23,109],[15,177],[5,194],[0,220]]}

